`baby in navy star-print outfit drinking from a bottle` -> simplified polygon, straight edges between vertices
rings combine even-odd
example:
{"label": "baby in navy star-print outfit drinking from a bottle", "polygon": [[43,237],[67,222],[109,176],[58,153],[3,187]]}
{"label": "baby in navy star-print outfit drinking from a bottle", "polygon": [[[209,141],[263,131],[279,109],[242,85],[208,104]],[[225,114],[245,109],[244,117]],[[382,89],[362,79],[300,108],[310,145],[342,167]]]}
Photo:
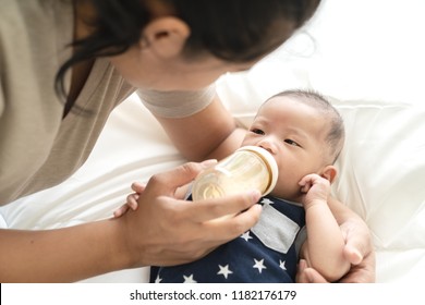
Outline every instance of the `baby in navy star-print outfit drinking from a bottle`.
{"label": "baby in navy star-print outfit drinking from a bottle", "polygon": [[350,263],[328,199],[343,142],[342,119],[319,94],[269,98],[242,143],[267,149],[279,169],[275,188],[259,202],[259,221],[202,259],[151,267],[151,282],[293,282],[300,258],[328,281],[340,279]]}

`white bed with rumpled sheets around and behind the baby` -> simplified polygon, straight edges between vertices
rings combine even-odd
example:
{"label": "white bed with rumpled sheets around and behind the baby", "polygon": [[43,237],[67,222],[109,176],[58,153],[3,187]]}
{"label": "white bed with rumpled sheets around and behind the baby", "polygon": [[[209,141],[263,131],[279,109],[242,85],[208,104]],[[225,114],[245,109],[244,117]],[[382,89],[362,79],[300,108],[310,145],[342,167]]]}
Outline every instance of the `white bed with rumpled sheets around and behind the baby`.
{"label": "white bed with rumpled sheets around and behind the baby", "polygon": [[[288,88],[328,96],[345,147],[332,193],[368,224],[377,282],[418,282],[425,270],[425,46],[422,0],[325,0],[315,17],[248,72],[217,81],[243,125]],[[134,181],[185,160],[136,95],[118,107],[87,162],[64,183],[0,208],[0,227],[48,229],[111,217]],[[36,208],[35,208],[36,207]],[[146,282],[148,268],[84,282]]]}

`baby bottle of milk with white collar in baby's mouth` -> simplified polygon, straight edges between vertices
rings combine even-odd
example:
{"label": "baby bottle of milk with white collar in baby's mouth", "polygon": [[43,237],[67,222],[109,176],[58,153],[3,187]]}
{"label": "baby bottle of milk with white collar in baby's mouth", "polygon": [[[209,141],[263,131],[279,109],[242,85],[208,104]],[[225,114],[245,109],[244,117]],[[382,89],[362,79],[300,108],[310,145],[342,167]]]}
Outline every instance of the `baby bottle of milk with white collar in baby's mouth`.
{"label": "baby bottle of milk with white collar in baby's mouth", "polygon": [[258,190],[263,196],[275,188],[278,166],[266,149],[243,146],[215,167],[201,172],[192,186],[193,200]]}

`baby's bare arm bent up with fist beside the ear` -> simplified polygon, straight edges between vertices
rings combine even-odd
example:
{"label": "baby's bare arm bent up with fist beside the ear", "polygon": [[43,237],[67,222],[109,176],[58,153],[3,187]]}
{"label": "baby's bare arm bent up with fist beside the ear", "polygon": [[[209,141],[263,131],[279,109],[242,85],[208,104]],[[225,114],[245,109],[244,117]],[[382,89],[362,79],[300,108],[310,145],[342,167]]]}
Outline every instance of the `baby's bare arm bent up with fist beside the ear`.
{"label": "baby's bare arm bent up with fist beside the ear", "polygon": [[301,257],[328,281],[340,279],[350,269],[344,258],[344,239],[328,207],[330,183],[317,175],[308,174],[300,181],[303,200],[307,240],[301,249]]}

